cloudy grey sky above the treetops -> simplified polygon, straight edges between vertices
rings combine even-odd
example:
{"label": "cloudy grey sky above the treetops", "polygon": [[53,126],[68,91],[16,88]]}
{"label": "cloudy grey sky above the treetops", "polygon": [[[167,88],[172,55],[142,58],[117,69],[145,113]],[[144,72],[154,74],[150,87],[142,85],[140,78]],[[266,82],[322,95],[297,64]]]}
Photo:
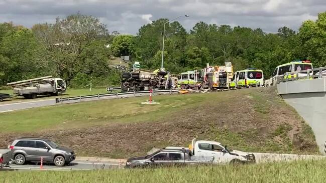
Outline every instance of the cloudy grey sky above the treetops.
{"label": "cloudy grey sky above the treetops", "polygon": [[110,32],[135,35],[153,20],[188,14],[178,20],[187,30],[204,21],[277,32],[282,26],[297,30],[325,10],[326,0],[0,0],[0,22],[31,28],[80,12],[100,18]]}

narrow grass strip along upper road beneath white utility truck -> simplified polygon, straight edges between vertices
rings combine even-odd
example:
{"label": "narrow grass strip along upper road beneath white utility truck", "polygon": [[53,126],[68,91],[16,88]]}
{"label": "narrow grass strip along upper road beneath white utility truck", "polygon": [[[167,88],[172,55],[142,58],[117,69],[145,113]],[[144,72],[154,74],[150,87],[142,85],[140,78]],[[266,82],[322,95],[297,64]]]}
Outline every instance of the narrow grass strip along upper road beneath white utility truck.
{"label": "narrow grass strip along upper road beneath white utility truck", "polygon": [[[0,90],[0,93],[9,93],[13,94],[13,90]],[[83,96],[83,95],[95,95],[95,94],[102,94],[107,93],[105,88],[92,88],[92,91],[89,91],[89,88],[85,89],[68,89],[65,93],[62,94],[62,96],[59,97],[76,97],[76,96]],[[50,96],[50,95],[39,95],[36,99],[26,99],[22,96],[17,96],[10,99],[4,99],[3,102],[0,102],[1,104],[9,104],[9,103],[16,103],[16,102],[28,102],[33,100],[45,100],[45,99],[51,99],[56,98],[58,96]]]}

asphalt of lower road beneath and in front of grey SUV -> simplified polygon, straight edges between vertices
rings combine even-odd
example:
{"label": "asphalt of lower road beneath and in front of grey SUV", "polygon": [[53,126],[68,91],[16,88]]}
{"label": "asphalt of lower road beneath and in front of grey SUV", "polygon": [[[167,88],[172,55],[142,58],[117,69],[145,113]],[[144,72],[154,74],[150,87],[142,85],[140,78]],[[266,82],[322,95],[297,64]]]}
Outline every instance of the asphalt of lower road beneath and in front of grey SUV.
{"label": "asphalt of lower road beneath and in front of grey SUV", "polygon": [[40,168],[40,162],[30,162],[24,165],[11,164],[10,167],[0,168],[0,171],[15,171],[15,170],[95,170],[95,169],[112,169],[123,168],[124,164],[119,162],[104,162],[104,161],[72,161],[70,164],[58,167],[54,164],[44,164],[43,168]]}

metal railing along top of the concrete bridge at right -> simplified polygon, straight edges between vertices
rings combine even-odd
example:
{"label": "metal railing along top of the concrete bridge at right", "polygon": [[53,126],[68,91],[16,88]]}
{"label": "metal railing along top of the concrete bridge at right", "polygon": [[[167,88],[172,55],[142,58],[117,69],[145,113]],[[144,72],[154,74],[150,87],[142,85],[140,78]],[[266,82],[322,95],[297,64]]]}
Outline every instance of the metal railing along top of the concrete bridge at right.
{"label": "metal railing along top of the concrete bridge at right", "polygon": [[322,78],[326,76],[326,67],[319,67],[315,69],[306,69],[301,71],[286,72],[282,76],[276,78],[276,83],[295,81],[295,80],[310,80]]}

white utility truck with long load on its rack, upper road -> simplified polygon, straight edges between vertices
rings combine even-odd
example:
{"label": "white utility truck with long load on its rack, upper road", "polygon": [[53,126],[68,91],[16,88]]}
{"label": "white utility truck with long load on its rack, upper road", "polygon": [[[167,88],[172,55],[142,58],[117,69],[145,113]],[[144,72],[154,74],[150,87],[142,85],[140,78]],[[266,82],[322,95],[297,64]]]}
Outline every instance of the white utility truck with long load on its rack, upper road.
{"label": "white utility truck with long load on its rack, upper road", "polygon": [[37,95],[61,95],[66,91],[66,82],[52,76],[16,81],[7,85],[13,87],[14,94],[25,98],[36,98]]}

